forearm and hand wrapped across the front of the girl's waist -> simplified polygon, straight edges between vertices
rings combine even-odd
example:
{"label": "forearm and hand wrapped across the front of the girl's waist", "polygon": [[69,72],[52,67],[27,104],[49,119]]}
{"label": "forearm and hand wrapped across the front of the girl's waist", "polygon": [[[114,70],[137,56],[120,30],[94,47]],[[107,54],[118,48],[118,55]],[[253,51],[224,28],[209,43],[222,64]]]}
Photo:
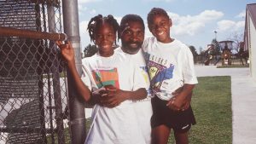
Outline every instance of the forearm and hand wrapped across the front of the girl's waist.
{"label": "forearm and hand wrapped across the front of the girl's waist", "polygon": [[146,98],[147,91],[144,88],[137,89],[135,91],[125,91],[122,89],[116,89],[113,86],[106,87],[108,95],[102,95],[100,104],[104,107],[117,107],[125,100],[142,100]]}

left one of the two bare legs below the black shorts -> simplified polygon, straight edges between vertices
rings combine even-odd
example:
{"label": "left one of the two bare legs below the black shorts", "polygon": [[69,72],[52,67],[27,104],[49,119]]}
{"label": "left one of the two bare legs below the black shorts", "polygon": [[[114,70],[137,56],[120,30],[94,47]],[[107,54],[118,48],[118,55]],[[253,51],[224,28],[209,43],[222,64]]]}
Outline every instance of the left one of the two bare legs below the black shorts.
{"label": "left one of the two bare legs below the black shorts", "polygon": [[170,135],[170,128],[161,124],[152,129],[152,144],[167,144]]}

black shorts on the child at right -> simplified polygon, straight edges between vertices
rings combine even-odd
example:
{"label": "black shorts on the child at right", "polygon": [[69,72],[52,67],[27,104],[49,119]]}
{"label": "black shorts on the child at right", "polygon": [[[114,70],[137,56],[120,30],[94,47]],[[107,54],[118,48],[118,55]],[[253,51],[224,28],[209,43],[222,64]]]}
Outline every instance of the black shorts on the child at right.
{"label": "black shorts on the child at right", "polygon": [[176,132],[187,132],[191,124],[195,124],[195,116],[192,108],[189,106],[184,111],[173,111],[166,107],[168,101],[160,100],[157,96],[151,99],[153,115],[151,117],[151,127],[157,127],[162,124]]}

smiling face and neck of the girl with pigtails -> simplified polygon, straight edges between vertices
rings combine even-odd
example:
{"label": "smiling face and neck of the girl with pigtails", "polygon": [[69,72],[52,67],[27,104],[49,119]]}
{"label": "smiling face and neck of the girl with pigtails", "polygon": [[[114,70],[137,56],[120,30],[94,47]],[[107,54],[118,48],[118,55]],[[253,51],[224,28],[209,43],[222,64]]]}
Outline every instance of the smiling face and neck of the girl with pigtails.
{"label": "smiling face and neck of the girl with pigtails", "polygon": [[116,38],[116,34],[113,31],[113,26],[103,22],[102,26],[99,26],[96,31],[96,45],[99,47],[100,55],[108,57],[113,55],[113,42]]}

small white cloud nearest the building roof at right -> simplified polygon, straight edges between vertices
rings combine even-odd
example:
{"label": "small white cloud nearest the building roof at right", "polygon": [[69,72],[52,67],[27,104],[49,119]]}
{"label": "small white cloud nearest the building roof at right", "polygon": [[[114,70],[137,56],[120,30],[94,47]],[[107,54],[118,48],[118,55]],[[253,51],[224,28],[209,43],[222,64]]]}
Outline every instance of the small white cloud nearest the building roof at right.
{"label": "small white cloud nearest the building roof at right", "polygon": [[218,29],[219,32],[236,32],[242,31],[245,25],[244,21],[232,21],[232,20],[221,20],[218,21]]}

